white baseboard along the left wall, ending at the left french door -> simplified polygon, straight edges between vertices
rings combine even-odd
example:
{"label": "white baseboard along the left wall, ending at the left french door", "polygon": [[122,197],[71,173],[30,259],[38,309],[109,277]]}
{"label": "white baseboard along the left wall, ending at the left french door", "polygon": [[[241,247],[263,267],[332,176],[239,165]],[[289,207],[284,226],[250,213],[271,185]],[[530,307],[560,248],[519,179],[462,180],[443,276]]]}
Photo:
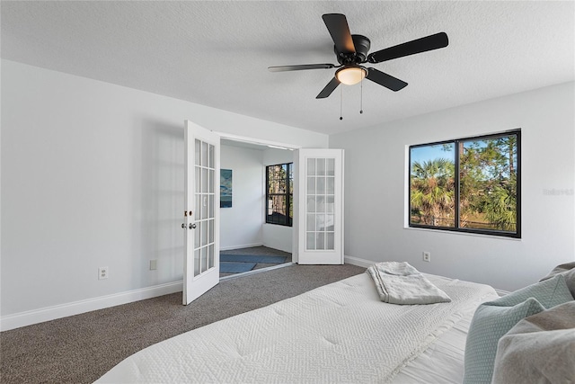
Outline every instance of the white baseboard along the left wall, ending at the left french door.
{"label": "white baseboard along the left wall, ending at the left french door", "polygon": [[10,329],[20,328],[21,326],[31,326],[32,324],[43,323],[61,317],[79,315],[97,309],[115,307],[134,301],[152,299],[157,296],[181,292],[182,287],[183,281],[167,282],[139,290],[128,290],[126,292],[114,293],[98,298],[15,313],[13,315],[0,317],[0,331],[8,331]]}

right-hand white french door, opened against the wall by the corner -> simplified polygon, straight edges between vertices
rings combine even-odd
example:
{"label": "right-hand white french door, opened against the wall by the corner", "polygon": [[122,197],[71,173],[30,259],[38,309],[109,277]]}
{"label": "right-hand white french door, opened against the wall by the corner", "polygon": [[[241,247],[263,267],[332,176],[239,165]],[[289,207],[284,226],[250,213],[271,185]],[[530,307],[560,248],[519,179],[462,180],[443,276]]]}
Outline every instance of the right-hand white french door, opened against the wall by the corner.
{"label": "right-hand white french door, opened against the wall by the corner", "polygon": [[294,157],[295,259],[342,264],[343,149],[299,149]]}

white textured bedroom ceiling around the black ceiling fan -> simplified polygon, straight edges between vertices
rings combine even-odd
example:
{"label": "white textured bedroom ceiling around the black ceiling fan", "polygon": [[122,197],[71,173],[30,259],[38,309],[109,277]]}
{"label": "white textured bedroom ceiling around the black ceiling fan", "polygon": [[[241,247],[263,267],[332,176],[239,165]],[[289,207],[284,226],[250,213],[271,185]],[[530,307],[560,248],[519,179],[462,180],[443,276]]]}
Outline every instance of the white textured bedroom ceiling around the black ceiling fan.
{"label": "white textured bedroom ceiling around the black ceiling fan", "polygon": [[[2,1],[2,58],[323,133],[514,94],[575,78],[575,3]],[[449,46],[374,67],[370,81],[315,96],[334,69],[323,13],[344,13],[371,51],[445,31]],[[341,103],[342,96],[342,103]],[[342,105],[343,121],[339,120]]]}

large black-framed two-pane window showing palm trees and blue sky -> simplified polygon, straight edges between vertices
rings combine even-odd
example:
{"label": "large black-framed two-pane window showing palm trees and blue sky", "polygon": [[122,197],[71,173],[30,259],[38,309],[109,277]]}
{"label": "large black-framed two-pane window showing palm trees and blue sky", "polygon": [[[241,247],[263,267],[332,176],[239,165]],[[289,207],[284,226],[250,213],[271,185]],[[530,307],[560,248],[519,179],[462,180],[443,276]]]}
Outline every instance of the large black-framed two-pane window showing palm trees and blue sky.
{"label": "large black-framed two-pane window showing palm trees and blue sky", "polygon": [[521,132],[410,147],[409,226],[521,237]]}

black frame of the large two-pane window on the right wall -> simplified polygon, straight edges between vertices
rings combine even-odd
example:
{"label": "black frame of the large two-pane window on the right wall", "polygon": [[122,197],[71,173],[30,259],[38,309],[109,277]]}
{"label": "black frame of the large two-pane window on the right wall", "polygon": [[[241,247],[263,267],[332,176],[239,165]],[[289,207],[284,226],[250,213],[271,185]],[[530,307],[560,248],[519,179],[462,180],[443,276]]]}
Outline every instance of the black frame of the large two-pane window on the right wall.
{"label": "black frame of the large two-pane window on the right wall", "polygon": [[[517,138],[517,167],[516,167],[516,178],[517,178],[517,222],[516,222],[516,231],[504,231],[498,229],[481,229],[481,228],[462,228],[460,226],[460,156],[459,156],[459,144],[465,143],[469,141],[479,141],[485,139],[493,139],[493,138],[504,138],[509,136],[516,136]],[[455,201],[454,204],[454,227],[438,227],[438,226],[431,226],[426,224],[417,224],[411,223],[411,149],[416,147],[430,147],[430,146],[441,146],[445,144],[453,144],[454,145],[454,160],[455,160],[455,169],[454,169],[454,194],[455,194]],[[431,143],[425,144],[417,144],[411,145],[408,147],[408,166],[407,166],[407,225],[408,228],[425,228],[425,229],[433,229],[433,230],[440,230],[440,231],[448,231],[448,232],[458,232],[458,233],[466,233],[466,234],[476,234],[476,235],[487,235],[487,236],[495,236],[495,237],[513,237],[513,238],[521,238],[521,129],[511,129],[504,132],[499,133],[492,133],[488,135],[480,135],[480,136],[472,136],[467,138],[455,138],[451,140],[442,140],[436,141]]]}

